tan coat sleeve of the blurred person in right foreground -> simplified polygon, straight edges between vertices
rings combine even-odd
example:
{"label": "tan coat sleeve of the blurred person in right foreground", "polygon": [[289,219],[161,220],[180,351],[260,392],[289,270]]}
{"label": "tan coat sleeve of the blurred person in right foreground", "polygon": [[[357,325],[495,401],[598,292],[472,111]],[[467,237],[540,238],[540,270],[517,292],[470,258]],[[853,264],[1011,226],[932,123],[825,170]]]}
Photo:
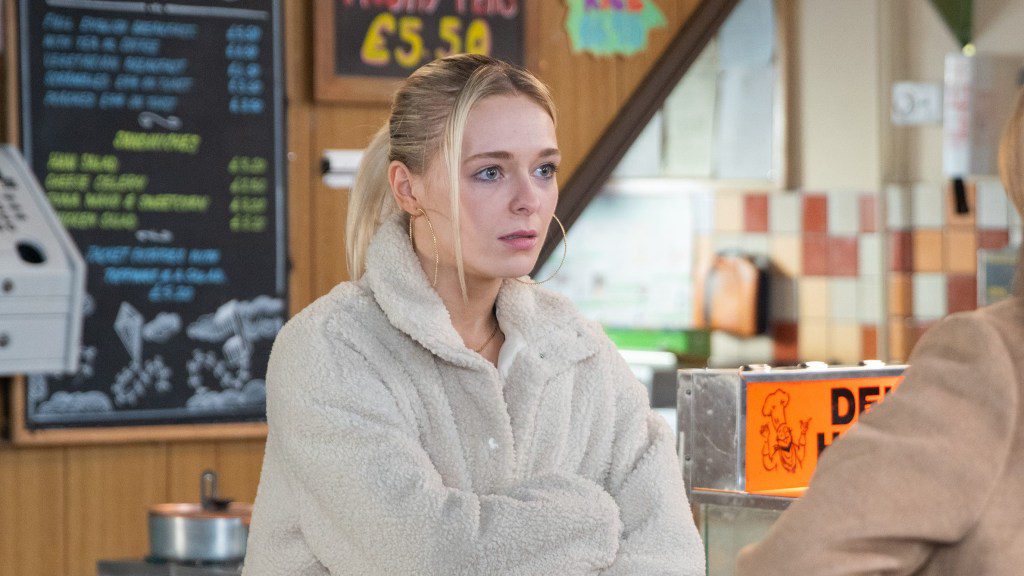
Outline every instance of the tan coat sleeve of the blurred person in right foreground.
{"label": "tan coat sleeve of the blurred person in right foreground", "polygon": [[806,495],[736,574],[911,574],[971,530],[1009,457],[1020,399],[979,315],[922,338],[900,387],[822,455]]}

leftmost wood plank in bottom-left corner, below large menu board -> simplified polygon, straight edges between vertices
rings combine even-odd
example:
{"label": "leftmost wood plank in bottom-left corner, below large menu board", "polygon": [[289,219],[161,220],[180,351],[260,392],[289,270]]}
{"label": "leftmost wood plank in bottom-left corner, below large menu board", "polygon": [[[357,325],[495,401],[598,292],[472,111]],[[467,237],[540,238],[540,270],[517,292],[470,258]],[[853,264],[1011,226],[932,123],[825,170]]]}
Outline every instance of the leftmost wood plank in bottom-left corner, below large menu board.
{"label": "leftmost wood plank in bottom-left corner, below large menu board", "polygon": [[65,573],[63,453],[0,449],[0,574]]}

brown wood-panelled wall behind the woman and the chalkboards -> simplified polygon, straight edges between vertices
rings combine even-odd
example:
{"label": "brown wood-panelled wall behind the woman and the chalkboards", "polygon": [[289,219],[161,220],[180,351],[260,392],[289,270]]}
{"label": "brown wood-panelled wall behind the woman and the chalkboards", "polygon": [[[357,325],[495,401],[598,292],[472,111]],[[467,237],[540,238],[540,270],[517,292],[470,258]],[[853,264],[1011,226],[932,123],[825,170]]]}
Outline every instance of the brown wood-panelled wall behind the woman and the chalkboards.
{"label": "brown wood-panelled wall behind the woman and the chalkboards", "polygon": [[[650,35],[647,51],[629,58],[573,54],[564,31],[564,2],[525,1],[526,60],[551,86],[561,115],[563,182],[699,0],[656,1],[669,26]],[[11,5],[5,5],[8,14]],[[288,0],[284,6],[294,314],[347,276],[348,196],[323,186],[323,151],[364,148],[387,108],[314,101],[312,0]],[[8,18],[13,28],[11,23]],[[9,28],[5,39],[11,38]],[[9,58],[11,51],[7,53]],[[14,72],[12,66],[6,68],[8,81]],[[11,101],[5,104],[0,124],[10,137],[17,124],[10,121]],[[0,445],[0,574],[92,576],[97,560],[141,558],[148,550],[151,504],[198,501],[199,475],[211,465],[220,477],[222,495],[252,501],[262,458],[263,442],[258,440],[43,449]]]}

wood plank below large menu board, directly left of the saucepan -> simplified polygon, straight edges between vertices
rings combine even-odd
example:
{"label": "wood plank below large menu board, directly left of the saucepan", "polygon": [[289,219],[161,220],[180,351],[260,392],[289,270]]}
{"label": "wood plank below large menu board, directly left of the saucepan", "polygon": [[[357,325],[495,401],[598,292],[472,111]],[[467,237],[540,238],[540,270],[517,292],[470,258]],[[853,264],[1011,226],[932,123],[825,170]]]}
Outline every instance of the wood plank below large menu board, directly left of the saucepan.
{"label": "wood plank below large menu board, directly left of the saucepan", "polygon": [[167,447],[66,450],[63,573],[92,576],[99,560],[148,553],[150,506],[167,500]]}

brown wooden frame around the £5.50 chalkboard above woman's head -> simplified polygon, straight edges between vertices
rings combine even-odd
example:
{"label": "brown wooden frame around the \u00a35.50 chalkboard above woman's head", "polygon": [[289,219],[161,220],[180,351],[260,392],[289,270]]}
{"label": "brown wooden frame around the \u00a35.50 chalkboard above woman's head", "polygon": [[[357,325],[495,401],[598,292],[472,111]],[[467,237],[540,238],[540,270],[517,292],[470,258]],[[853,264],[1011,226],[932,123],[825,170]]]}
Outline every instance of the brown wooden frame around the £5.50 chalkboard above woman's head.
{"label": "brown wooden frame around the \u00a35.50 chalkboard above woman's head", "polygon": [[[404,78],[370,75],[338,74],[336,41],[341,31],[335,17],[336,5],[343,0],[314,0],[313,4],[313,92],[319,101],[352,104],[386,104],[401,86]],[[443,5],[450,0],[440,0]],[[466,2],[469,4],[470,2]],[[518,34],[517,50],[511,64],[534,68],[526,50],[524,29],[527,26],[525,2],[510,0],[508,6],[515,6]],[[397,14],[401,17],[402,14]],[[412,17],[416,17],[415,15]],[[465,32],[465,31],[463,31]],[[430,49],[427,47],[427,49]],[[415,70],[415,69],[414,69]]]}

